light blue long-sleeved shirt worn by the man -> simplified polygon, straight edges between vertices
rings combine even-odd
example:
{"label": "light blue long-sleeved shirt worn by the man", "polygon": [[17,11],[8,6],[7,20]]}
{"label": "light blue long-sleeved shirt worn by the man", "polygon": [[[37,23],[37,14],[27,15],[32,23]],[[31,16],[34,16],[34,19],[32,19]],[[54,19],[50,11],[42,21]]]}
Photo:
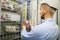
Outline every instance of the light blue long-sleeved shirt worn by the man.
{"label": "light blue long-sleeved shirt worn by the man", "polygon": [[22,40],[56,40],[59,28],[53,18],[46,19],[42,24],[31,28],[30,32],[23,29]]}

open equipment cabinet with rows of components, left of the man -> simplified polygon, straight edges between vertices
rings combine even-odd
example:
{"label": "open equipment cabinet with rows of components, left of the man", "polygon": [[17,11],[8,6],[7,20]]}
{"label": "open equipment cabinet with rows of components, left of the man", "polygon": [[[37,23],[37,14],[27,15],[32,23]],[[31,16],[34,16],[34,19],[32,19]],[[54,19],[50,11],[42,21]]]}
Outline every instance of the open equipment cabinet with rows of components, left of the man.
{"label": "open equipment cabinet with rows of components, left of the man", "polygon": [[[1,0],[1,2],[2,1],[3,0]],[[21,40],[21,7],[15,6],[15,8],[13,8],[16,1],[14,1],[14,3],[10,1],[11,0],[8,0],[8,2],[3,1],[9,5],[11,3],[12,5],[10,7],[6,4],[3,5],[4,3],[0,4],[0,40]]]}

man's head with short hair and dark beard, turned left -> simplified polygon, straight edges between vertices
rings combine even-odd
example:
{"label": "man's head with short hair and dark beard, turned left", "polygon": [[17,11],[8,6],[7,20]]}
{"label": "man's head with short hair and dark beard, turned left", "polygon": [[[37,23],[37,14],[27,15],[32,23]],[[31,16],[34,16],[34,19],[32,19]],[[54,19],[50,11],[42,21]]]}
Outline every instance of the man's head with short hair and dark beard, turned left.
{"label": "man's head with short hair and dark beard, turned left", "polygon": [[41,19],[53,18],[53,14],[55,11],[55,8],[49,6],[46,3],[42,3],[40,6]]}

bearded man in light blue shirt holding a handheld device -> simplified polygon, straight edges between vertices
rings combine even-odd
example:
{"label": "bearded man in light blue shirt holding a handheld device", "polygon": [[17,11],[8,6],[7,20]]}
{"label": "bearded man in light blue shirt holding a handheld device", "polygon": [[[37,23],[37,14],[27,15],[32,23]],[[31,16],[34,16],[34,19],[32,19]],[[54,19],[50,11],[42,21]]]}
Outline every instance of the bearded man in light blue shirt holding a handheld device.
{"label": "bearded man in light blue shirt holding a handheld device", "polygon": [[[59,28],[53,20],[55,9],[46,3],[41,4],[40,15],[44,22],[27,32],[26,27],[21,32],[22,40],[57,40]],[[27,25],[26,25],[27,26]]]}

